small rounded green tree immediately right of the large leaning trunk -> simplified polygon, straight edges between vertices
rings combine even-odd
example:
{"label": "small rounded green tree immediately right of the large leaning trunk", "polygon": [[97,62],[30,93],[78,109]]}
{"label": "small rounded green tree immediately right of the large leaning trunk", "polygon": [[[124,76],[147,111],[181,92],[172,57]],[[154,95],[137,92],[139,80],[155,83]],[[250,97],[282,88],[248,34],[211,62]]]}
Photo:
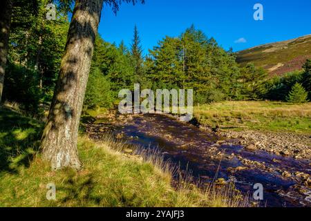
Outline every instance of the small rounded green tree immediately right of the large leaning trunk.
{"label": "small rounded green tree immediately right of the large leaning trunk", "polygon": [[112,102],[111,82],[100,72],[99,68],[95,68],[88,77],[84,108],[111,107]]}

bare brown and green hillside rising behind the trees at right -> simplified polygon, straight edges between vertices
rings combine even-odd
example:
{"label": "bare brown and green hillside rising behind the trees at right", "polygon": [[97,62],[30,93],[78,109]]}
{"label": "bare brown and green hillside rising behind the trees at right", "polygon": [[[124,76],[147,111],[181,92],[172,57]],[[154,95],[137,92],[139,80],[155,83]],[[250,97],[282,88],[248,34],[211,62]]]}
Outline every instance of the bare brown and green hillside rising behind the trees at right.
{"label": "bare brown and green hillside rising behind the trees at right", "polygon": [[237,52],[236,61],[242,66],[252,62],[270,75],[283,75],[300,70],[305,59],[311,58],[311,35],[288,41],[264,44]]}

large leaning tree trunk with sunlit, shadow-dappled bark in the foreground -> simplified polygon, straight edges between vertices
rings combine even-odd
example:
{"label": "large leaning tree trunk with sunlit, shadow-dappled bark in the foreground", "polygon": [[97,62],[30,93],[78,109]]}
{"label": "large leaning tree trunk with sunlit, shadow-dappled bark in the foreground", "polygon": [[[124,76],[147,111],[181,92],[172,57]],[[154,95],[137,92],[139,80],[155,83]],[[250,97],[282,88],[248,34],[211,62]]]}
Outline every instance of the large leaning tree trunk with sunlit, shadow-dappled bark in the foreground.
{"label": "large leaning tree trunk with sunlit, shadow-dappled bark in the foreground", "polygon": [[103,0],[77,0],[61,70],[41,140],[44,160],[53,169],[80,169],[77,153],[79,120]]}

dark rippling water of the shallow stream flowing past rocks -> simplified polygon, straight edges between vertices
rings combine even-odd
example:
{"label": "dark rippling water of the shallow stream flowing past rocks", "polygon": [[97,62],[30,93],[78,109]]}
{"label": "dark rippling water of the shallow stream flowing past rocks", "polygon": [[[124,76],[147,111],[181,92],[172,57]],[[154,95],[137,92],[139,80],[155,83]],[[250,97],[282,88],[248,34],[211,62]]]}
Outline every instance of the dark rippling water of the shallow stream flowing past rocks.
{"label": "dark rippling water of the shallow stream flowing past rocks", "polygon": [[[191,171],[194,178],[211,182],[215,177],[235,182],[243,193],[254,193],[256,183],[263,184],[264,200],[261,206],[311,206],[311,190],[299,191],[299,179],[283,177],[282,171],[292,174],[297,171],[311,174],[310,162],[291,157],[273,155],[265,151],[247,151],[243,146],[230,142],[217,144],[220,140],[214,133],[202,131],[191,124],[178,122],[164,115],[138,115],[115,133],[122,133],[131,144],[153,148],[180,169]],[[243,160],[259,162],[244,164]],[[247,167],[230,171],[237,166]],[[308,191],[310,191],[308,193]]]}

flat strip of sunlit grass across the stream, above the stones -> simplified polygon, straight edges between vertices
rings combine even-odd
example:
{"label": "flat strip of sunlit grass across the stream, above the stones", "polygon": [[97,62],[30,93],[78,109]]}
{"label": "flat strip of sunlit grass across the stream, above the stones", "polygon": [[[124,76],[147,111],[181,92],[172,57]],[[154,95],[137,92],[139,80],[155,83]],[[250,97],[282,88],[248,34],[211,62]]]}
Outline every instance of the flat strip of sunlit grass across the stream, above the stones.
{"label": "flat strip of sunlit grass across the stream, above the stones", "polygon": [[311,103],[220,102],[196,106],[201,124],[223,129],[311,133]]}

